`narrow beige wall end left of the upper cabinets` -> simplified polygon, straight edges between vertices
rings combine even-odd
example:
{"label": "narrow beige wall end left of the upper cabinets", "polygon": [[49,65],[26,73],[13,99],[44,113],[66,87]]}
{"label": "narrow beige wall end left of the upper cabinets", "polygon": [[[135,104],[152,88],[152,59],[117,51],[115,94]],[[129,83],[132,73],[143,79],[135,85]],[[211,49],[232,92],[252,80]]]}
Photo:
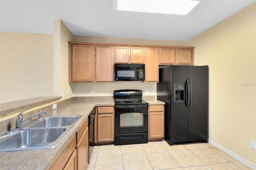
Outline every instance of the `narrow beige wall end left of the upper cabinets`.
{"label": "narrow beige wall end left of the upper cabinets", "polygon": [[[68,83],[68,41],[73,40],[73,34],[64,23],[54,20],[54,95],[61,96],[64,92],[64,99],[73,97],[73,92]],[[68,94],[67,94],[68,89]]]}

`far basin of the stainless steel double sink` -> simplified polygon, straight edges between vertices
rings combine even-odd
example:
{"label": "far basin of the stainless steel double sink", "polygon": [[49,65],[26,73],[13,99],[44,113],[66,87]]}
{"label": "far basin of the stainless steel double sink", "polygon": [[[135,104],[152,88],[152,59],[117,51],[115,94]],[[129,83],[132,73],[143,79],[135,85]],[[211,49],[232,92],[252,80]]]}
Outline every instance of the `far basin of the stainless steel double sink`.
{"label": "far basin of the stainless steel double sink", "polygon": [[42,120],[32,125],[32,128],[64,127],[74,123],[79,116],[53,116],[42,117]]}

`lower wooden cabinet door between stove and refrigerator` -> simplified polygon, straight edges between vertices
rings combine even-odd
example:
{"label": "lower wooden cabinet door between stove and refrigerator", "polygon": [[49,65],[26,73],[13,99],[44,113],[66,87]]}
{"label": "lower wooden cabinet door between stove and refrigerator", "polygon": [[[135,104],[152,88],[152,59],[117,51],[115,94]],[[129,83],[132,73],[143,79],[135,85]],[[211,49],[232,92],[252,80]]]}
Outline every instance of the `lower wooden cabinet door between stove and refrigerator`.
{"label": "lower wooden cabinet door between stove and refrigerator", "polygon": [[150,112],[149,117],[149,138],[163,138],[164,112]]}

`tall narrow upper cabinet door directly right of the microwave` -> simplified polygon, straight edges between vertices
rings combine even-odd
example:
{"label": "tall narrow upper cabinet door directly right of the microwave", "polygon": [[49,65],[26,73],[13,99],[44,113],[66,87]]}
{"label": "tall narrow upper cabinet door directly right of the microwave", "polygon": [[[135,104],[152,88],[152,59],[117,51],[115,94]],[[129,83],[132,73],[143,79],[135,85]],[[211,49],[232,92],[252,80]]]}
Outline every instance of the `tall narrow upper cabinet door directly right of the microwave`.
{"label": "tall narrow upper cabinet door directly right of the microwave", "polygon": [[158,82],[158,48],[146,47],[145,82]]}

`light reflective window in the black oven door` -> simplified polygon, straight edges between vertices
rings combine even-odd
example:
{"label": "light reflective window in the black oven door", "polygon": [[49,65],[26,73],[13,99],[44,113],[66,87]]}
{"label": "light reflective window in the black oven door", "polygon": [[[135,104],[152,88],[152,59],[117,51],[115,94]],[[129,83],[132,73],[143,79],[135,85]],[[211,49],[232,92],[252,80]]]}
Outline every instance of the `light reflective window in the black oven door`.
{"label": "light reflective window in the black oven door", "polygon": [[122,113],[120,115],[120,127],[143,127],[143,113]]}

